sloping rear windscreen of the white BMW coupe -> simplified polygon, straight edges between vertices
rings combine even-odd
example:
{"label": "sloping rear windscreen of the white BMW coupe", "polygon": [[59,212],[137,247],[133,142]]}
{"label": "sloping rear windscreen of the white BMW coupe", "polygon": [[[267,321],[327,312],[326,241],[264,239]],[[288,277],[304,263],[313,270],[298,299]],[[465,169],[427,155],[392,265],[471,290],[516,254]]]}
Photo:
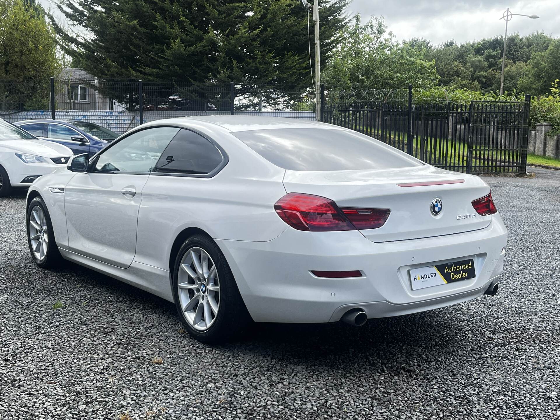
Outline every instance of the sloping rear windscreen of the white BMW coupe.
{"label": "sloping rear windscreen of the white BMW coupe", "polygon": [[282,128],[232,133],[270,163],[292,171],[345,171],[421,166],[422,162],[365,134]]}

